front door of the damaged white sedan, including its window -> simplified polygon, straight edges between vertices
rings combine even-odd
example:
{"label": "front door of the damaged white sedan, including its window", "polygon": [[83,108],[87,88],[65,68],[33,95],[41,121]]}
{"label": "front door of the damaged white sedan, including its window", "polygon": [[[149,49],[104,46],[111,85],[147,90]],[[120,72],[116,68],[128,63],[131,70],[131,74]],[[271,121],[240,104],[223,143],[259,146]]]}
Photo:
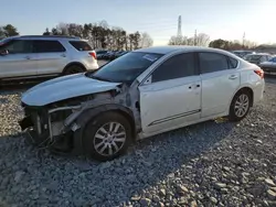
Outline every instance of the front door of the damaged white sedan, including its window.
{"label": "front door of the damaged white sedan, including its window", "polygon": [[139,86],[142,131],[174,129],[200,118],[201,79],[193,53],[159,65]]}

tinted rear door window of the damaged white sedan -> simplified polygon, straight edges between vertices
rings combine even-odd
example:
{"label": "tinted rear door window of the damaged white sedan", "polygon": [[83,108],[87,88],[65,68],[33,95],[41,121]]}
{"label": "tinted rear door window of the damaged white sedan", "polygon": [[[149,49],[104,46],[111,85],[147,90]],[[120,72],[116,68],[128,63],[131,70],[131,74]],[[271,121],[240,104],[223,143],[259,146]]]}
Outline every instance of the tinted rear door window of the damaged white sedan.
{"label": "tinted rear door window of the damaged white sedan", "polygon": [[201,74],[229,69],[227,57],[216,53],[199,53]]}

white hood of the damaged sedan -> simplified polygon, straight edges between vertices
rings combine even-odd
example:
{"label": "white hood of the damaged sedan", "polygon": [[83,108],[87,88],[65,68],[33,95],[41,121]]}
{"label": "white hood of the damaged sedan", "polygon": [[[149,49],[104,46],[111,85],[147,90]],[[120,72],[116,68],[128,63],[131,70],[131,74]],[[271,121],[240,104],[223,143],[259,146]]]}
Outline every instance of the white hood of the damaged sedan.
{"label": "white hood of the damaged sedan", "polygon": [[39,84],[22,95],[22,102],[29,106],[44,106],[60,100],[107,91],[120,83],[109,83],[75,74]]}

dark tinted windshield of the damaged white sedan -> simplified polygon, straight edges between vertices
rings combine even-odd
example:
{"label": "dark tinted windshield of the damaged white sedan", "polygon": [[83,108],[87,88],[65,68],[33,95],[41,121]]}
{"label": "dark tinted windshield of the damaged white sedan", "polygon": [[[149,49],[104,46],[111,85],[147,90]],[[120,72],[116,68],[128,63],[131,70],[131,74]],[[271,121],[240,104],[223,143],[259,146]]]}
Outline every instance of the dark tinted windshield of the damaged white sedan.
{"label": "dark tinted windshield of the damaged white sedan", "polygon": [[87,74],[87,76],[106,81],[131,84],[161,56],[162,54],[155,53],[127,53],[126,55],[104,65],[96,73]]}

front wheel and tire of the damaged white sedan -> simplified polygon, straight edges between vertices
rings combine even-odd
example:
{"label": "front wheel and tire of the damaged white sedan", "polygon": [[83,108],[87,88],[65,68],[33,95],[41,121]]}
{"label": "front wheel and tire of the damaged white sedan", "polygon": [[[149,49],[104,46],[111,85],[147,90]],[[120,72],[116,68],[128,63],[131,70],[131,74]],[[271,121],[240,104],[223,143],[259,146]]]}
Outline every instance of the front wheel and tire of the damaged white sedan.
{"label": "front wheel and tire of the damaged white sedan", "polygon": [[[114,133],[108,137],[110,126]],[[117,138],[114,137],[116,134]],[[97,161],[114,160],[125,154],[131,134],[129,121],[123,115],[113,111],[102,113],[86,124],[83,135],[85,153]]]}

